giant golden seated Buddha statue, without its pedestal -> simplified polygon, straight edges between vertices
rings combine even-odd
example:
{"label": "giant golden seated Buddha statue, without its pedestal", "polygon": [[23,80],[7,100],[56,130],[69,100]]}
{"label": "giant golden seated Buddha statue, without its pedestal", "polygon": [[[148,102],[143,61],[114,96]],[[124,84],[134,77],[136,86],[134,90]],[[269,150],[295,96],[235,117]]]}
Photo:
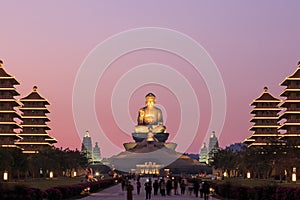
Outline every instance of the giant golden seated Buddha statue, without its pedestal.
{"label": "giant golden seated Buddha statue, without its pedestal", "polygon": [[146,106],[139,110],[138,125],[135,127],[135,133],[165,133],[166,127],[163,125],[162,112],[155,107],[155,95],[149,93],[146,95]]}

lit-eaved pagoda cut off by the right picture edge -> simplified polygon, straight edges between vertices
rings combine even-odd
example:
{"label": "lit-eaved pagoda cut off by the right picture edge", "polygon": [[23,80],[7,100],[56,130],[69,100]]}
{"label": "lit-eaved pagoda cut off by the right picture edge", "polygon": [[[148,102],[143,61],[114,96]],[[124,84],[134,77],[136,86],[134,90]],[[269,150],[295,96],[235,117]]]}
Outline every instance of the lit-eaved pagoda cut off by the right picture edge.
{"label": "lit-eaved pagoda cut off by the right picture edge", "polygon": [[280,85],[286,87],[280,94],[285,98],[281,104],[284,112],[279,117],[280,120],[285,120],[279,128],[285,131],[281,139],[289,146],[300,148],[300,62],[296,71],[286,77]]}

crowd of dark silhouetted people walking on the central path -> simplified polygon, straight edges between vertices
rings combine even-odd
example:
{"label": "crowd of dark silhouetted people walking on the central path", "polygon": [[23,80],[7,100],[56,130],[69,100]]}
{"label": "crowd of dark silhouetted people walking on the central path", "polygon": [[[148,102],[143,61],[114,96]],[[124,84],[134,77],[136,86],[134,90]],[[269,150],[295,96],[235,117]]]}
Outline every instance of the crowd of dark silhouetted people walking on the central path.
{"label": "crowd of dark silhouetted people walking on the central path", "polygon": [[[195,197],[204,198],[208,200],[210,185],[207,181],[202,181],[199,179],[186,179],[182,177],[160,177],[146,178],[144,181],[144,189],[146,194],[146,200],[150,200],[151,196],[161,195],[171,196],[171,195],[191,195]],[[132,200],[132,192],[136,188],[136,194],[140,195],[142,183],[140,177],[134,180],[134,184],[131,183],[128,177],[123,178],[121,181],[121,187],[124,191],[127,191],[127,200]]]}

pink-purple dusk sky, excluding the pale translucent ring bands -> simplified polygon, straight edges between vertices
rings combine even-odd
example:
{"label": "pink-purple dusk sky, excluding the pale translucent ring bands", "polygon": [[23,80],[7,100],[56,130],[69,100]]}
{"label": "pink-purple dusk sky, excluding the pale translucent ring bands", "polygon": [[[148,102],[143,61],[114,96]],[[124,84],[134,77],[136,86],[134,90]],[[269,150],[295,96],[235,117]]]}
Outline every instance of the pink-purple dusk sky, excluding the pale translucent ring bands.
{"label": "pink-purple dusk sky, excluding the pale translucent ring bands", "polygon": [[[75,149],[81,147],[83,133],[75,127],[72,93],[76,74],[90,51],[108,37],[133,28],[182,32],[207,50],[223,78],[227,112],[223,131],[217,135],[225,147],[250,135],[249,103],[263,87],[278,96],[283,90],[279,83],[296,69],[300,60],[299,7],[299,1],[2,1],[0,59],[21,82],[17,87],[21,96],[37,85],[51,102],[49,133],[59,141],[56,146]],[[168,52],[143,50],[115,60],[95,93],[97,120],[116,146],[122,148],[122,143],[131,141],[130,133],[123,133],[112,117],[110,97],[124,73],[149,62],[180,71],[192,85],[201,114],[197,136],[187,151],[198,153],[206,133],[212,131],[208,130],[208,89],[189,63]],[[149,90],[157,94],[168,114],[166,125],[172,139],[181,111],[176,92],[168,88],[152,84],[132,91],[131,120],[135,121]],[[102,153],[104,157],[115,154],[109,148],[102,148]]]}

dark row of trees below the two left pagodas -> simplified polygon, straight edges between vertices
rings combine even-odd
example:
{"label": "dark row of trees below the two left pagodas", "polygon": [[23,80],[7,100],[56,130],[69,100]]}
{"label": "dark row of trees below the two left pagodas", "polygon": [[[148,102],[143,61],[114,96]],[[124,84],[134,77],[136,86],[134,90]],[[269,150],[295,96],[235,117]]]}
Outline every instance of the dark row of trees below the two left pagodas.
{"label": "dark row of trees below the two left pagodas", "polygon": [[7,171],[10,180],[49,177],[50,171],[55,176],[71,176],[71,171],[84,169],[87,163],[77,149],[49,147],[36,154],[24,154],[17,148],[0,148],[0,173]]}

